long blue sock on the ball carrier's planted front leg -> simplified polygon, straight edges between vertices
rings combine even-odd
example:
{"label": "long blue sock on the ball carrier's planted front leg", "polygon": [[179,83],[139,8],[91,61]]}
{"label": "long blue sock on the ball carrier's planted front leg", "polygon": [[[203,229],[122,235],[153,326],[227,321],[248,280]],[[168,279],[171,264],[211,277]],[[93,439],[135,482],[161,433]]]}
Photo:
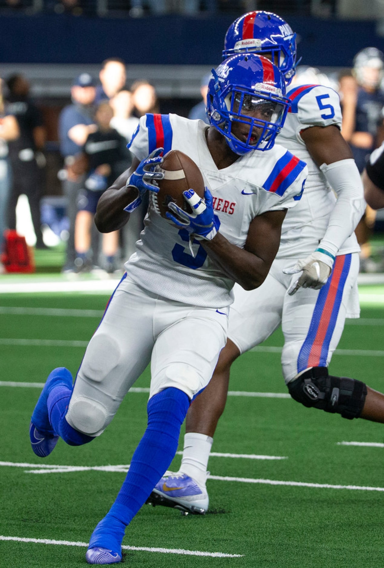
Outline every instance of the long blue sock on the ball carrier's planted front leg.
{"label": "long blue sock on the ball carrier's planted front leg", "polygon": [[148,402],[148,425],[122,488],[108,514],[95,528],[89,548],[119,552],[124,528],[143,506],[176,454],[181,424],[190,405],[185,392],[169,387]]}

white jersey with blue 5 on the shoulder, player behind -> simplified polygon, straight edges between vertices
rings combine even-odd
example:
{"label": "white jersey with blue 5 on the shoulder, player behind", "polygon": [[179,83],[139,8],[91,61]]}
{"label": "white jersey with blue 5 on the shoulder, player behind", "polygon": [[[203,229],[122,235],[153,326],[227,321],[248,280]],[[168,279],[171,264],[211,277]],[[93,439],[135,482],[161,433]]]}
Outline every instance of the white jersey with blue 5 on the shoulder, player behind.
{"label": "white jersey with blue 5 on the shoulder, player behind", "polygon": [[[287,211],[276,258],[305,258],[318,247],[327,230],[336,195],[312,160],[300,132],[311,126],[330,124],[341,128],[340,98],[331,87],[322,85],[294,87],[287,97],[291,100],[291,108],[277,142],[307,163],[308,177],[298,206]],[[337,254],[358,250],[360,247],[352,233]]]}

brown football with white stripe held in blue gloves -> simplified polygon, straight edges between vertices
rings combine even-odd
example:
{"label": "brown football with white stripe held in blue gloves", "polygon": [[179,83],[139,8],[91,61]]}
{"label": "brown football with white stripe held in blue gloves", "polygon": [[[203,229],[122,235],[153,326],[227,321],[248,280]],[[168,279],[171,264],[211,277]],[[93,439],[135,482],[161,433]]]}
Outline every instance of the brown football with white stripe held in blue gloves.
{"label": "brown football with white stripe held in blue gloves", "polygon": [[164,179],[158,180],[158,193],[152,193],[157,211],[165,218],[169,211],[168,203],[173,201],[184,211],[191,211],[183,198],[183,191],[193,189],[199,197],[204,197],[204,180],[198,166],[190,157],[179,150],[170,150],[160,166]]}

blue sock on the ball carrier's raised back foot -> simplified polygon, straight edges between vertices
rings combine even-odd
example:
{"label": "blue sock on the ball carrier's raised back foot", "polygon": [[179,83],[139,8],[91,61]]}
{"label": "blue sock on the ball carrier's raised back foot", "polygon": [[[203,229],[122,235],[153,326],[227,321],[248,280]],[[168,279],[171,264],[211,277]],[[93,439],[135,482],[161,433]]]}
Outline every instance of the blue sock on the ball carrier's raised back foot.
{"label": "blue sock on the ball carrier's raised back foot", "polygon": [[66,385],[57,385],[53,387],[48,395],[48,415],[49,422],[53,430],[70,446],[81,446],[87,444],[93,437],[78,432],[68,424],[65,419],[68,411],[68,404],[72,395],[72,389]]}

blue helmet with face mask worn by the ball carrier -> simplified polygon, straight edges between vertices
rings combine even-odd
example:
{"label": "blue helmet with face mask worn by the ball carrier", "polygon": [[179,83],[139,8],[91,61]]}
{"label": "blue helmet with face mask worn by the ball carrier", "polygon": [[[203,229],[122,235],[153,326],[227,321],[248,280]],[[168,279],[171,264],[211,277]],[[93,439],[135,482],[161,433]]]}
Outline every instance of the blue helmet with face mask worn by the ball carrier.
{"label": "blue helmet with face mask worn by the ball carrier", "polygon": [[[273,147],[289,106],[284,76],[266,57],[239,53],[212,69],[208,119],[226,137],[229,148],[240,156]],[[235,123],[247,125],[241,132],[242,139],[232,132]]]}

